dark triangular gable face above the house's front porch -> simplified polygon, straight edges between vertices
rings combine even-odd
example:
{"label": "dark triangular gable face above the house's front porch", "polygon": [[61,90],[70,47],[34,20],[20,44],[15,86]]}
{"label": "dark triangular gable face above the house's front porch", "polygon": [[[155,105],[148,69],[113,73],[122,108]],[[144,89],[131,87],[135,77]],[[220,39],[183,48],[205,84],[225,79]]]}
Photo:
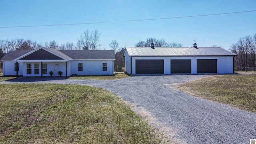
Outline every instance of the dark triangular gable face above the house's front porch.
{"label": "dark triangular gable face above the house's front porch", "polygon": [[20,58],[20,60],[63,60],[63,58],[47,52],[44,49],[39,49],[27,56],[24,56],[23,58]]}

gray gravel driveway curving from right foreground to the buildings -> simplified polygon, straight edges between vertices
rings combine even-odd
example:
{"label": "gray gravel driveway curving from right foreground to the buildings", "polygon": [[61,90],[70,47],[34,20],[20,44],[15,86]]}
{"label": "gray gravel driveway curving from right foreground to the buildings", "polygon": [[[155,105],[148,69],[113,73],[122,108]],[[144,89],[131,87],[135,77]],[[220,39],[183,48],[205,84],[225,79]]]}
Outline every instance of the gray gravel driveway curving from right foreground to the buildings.
{"label": "gray gravel driveway curving from right foreground to the buildings", "polygon": [[[85,84],[109,90],[134,106],[150,124],[176,143],[249,144],[256,139],[256,114],[172,89],[207,75],[132,76],[119,80],[48,80],[18,78],[15,83]],[[1,83],[13,83],[12,81]],[[20,82],[17,82],[20,81]]]}

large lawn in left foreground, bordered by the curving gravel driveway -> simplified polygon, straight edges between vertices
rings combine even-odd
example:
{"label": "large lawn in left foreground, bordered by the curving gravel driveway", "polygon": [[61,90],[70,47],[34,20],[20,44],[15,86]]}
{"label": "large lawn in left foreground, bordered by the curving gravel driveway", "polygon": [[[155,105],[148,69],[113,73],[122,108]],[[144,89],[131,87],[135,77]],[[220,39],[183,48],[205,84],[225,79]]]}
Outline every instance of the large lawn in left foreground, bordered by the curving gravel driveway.
{"label": "large lawn in left foreground, bordered by the curving gravel driveway", "polygon": [[169,142],[121,98],[101,88],[0,84],[0,143]]}

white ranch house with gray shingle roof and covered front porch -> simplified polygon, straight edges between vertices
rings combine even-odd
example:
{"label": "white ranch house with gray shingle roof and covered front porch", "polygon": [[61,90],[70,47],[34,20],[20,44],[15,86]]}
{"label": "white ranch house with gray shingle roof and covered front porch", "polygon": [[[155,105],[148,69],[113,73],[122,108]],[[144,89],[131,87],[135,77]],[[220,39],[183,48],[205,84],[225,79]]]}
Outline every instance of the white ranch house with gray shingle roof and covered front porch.
{"label": "white ranch house with gray shingle roof and covered front porch", "polygon": [[56,50],[39,47],[8,52],[2,59],[4,76],[113,75],[114,50]]}

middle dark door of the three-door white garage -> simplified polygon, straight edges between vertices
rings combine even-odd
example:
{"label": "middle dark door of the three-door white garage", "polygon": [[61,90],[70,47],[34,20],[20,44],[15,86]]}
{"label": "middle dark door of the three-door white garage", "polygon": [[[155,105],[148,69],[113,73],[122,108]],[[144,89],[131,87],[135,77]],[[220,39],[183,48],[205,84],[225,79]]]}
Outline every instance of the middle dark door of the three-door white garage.
{"label": "middle dark door of the three-door white garage", "polygon": [[191,60],[171,60],[171,74],[191,74]]}

